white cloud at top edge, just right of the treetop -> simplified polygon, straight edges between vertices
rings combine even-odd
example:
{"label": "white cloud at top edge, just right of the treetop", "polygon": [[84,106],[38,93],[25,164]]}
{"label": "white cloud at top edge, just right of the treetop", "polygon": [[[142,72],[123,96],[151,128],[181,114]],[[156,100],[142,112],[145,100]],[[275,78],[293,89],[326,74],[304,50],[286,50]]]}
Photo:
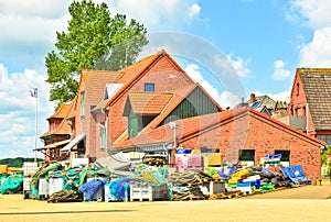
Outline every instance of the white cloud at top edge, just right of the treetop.
{"label": "white cloud at top edge, just right of the treetop", "polygon": [[196,2],[197,0],[116,0],[111,1],[109,9],[113,13],[124,13],[136,19],[150,31],[190,24],[200,15],[201,7]]}

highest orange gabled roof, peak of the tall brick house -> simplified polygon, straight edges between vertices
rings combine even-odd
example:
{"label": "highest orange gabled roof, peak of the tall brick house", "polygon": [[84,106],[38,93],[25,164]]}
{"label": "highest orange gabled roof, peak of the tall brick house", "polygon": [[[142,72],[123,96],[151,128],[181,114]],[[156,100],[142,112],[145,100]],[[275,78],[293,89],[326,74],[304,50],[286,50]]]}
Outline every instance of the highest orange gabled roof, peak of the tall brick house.
{"label": "highest orange gabled roof, peak of the tall brick house", "polygon": [[120,79],[120,82],[124,84],[124,86],[111,98],[105,101],[104,108],[115,102],[120,96],[124,95],[124,92],[128,91],[135,85],[135,82],[139,81],[139,79],[142,78],[143,75],[149,70],[149,68],[162,57],[167,57],[179,71],[190,79],[192,84],[194,82],[192,78],[178,65],[178,63],[163,49],[121,69],[120,73],[124,74],[124,76]]}

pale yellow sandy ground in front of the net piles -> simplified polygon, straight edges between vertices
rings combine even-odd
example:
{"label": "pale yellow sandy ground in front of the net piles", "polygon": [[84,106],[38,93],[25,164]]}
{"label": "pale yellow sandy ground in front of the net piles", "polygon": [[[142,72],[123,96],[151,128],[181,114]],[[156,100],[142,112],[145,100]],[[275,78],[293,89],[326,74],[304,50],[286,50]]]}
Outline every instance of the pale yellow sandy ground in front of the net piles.
{"label": "pale yellow sandy ground in front of the net piles", "polygon": [[47,203],[0,195],[0,221],[330,221],[330,182],[234,199]]}

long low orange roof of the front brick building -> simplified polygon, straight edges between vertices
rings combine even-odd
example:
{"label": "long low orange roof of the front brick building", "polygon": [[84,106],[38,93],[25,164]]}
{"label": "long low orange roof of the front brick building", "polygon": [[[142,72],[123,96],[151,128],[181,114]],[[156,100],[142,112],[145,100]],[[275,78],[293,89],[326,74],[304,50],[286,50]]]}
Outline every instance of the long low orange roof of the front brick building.
{"label": "long low orange roof of the front brick building", "polygon": [[[266,114],[263,114],[252,108],[241,108],[235,110],[223,111],[218,113],[212,113],[201,116],[188,118],[175,121],[177,124],[177,137],[179,142],[189,136],[199,135],[200,133],[206,131],[207,129],[226,124],[228,121],[234,121],[235,118],[239,118],[243,115],[257,115],[264,122],[274,123],[277,126],[286,129],[289,133],[296,134],[300,136],[302,140],[310,141],[312,143],[325,145],[324,142],[307,135],[306,133],[293,129],[280,121],[277,121]],[[151,132],[143,132],[138,136],[127,140],[125,142],[116,144],[116,147],[132,147],[139,145],[150,145],[150,144],[159,144],[159,143],[172,143],[173,142],[173,130],[169,124],[162,125],[152,130]]]}

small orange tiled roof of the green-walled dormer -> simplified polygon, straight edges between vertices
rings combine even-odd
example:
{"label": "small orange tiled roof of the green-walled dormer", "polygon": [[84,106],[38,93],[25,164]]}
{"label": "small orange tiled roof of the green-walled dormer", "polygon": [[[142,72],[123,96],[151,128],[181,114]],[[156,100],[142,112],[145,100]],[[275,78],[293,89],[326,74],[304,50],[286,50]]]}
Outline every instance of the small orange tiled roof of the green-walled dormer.
{"label": "small orange tiled roof of the green-walled dormer", "polygon": [[[151,93],[151,92],[129,92],[127,104],[130,103],[135,113],[140,115],[157,115],[161,113],[164,107],[172,98],[172,93]],[[129,115],[128,110],[125,109],[125,115]]]}

